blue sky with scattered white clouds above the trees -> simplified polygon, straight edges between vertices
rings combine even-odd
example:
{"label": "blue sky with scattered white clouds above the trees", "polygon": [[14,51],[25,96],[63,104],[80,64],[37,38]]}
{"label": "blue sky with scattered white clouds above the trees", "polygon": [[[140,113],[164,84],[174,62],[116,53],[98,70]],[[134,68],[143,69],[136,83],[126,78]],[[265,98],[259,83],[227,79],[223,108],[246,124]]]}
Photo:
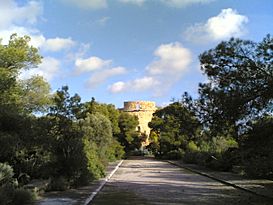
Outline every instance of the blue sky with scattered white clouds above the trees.
{"label": "blue sky with scattered white clouds above the trees", "polygon": [[162,106],[206,78],[198,55],[230,37],[273,31],[272,0],[0,0],[0,37],[29,35],[42,75],[83,101]]}

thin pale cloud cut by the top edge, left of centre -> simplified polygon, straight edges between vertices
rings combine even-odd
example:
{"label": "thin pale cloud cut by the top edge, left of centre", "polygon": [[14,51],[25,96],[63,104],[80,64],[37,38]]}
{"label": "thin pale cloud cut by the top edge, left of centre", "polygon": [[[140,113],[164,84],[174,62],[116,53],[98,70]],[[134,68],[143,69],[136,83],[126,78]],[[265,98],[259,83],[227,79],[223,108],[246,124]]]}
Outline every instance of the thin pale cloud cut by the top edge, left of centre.
{"label": "thin pale cloud cut by the top edge, left of centre", "polygon": [[62,0],[65,3],[76,5],[83,9],[107,8],[107,0]]}

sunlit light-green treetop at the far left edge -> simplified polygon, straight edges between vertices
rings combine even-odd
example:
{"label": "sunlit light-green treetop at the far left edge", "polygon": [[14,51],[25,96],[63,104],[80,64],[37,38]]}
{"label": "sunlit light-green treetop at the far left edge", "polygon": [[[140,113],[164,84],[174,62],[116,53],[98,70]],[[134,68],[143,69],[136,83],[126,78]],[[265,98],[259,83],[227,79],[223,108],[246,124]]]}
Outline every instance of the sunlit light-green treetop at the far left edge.
{"label": "sunlit light-green treetop at the far left edge", "polygon": [[38,49],[29,45],[28,36],[13,34],[8,45],[0,41],[0,104],[14,104],[19,100],[17,84],[19,73],[23,69],[36,67],[41,62]]}

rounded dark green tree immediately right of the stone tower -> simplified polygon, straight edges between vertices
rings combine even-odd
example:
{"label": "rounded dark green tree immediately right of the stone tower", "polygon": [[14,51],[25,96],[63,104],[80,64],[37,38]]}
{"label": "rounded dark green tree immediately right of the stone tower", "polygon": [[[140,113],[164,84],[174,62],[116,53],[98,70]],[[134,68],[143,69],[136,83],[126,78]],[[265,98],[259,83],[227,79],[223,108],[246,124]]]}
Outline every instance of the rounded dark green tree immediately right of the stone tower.
{"label": "rounded dark green tree immediately right of the stone tower", "polygon": [[[174,102],[154,113],[149,123],[160,154],[168,155],[187,149],[190,141],[197,140],[200,123],[192,111],[180,102]],[[156,142],[152,142],[156,143]]]}

